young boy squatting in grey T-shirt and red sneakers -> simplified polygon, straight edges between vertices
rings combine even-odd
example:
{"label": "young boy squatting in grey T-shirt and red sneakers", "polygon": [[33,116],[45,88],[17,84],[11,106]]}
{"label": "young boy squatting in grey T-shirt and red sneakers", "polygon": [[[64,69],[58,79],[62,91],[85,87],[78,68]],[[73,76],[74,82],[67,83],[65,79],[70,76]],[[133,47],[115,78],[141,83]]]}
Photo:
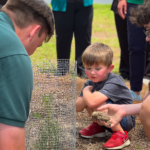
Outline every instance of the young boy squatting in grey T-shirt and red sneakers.
{"label": "young boy squatting in grey T-shirt and red sneakers", "polygon": [[[76,111],[87,110],[91,116],[94,110],[105,104],[132,104],[133,100],[123,79],[111,73],[113,52],[109,46],[95,43],[87,47],[82,61],[88,81],[85,83],[76,101]],[[107,110],[105,110],[106,112]],[[112,128],[93,122],[79,134],[84,138],[105,137],[105,129],[112,132],[111,138],[104,144],[105,149],[121,149],[130,145],[128,133],[135,126],[135,117],[124,117]]]}

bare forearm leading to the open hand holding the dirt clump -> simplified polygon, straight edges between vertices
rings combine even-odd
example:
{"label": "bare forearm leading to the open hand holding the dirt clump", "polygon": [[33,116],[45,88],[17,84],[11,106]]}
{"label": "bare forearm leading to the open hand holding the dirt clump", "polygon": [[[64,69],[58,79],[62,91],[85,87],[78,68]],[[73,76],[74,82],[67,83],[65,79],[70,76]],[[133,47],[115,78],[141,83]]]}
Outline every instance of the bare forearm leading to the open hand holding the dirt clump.
{"label": "bare forearm leading to the open hand holding the dirt clump", "polygon": [[124,110],[124,116],[139,115],[142,103],[121,105]]}

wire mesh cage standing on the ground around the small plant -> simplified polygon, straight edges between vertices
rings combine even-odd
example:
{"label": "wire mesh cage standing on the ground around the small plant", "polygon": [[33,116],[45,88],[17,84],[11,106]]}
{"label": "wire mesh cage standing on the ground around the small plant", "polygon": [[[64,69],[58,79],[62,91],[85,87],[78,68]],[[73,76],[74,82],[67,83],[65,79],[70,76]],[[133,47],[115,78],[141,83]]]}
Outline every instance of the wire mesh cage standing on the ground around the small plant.
{"label": "wire mesh cage standing on the ground around the small plant", "polygon": [[34,63],[33,76],[26,149],[75,150],[76,62]]}

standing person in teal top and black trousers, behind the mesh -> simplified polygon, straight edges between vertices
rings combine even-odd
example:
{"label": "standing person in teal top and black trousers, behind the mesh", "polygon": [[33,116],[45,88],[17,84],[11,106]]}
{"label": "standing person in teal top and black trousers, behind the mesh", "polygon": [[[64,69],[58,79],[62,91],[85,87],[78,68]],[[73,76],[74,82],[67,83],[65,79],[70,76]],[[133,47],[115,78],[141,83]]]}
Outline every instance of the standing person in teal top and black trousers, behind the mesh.
{"label": "standing person in teal top and black trousers, behind the mesh", "polygon": [[55,18],[57,59],[62,60],[58,61],[55,75],[61,76],[68,71],[65,63],[70,59],[74,34],[77,74],[81,78],[87,78],[81,55],[91,44],[93,0],[52,0],[51,5]]}

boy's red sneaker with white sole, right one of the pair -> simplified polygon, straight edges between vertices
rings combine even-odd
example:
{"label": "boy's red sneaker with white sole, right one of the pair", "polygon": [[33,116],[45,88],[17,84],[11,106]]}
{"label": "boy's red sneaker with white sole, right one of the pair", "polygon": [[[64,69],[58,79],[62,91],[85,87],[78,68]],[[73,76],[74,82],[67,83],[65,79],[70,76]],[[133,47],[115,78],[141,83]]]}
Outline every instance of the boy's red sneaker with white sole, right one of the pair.
{"label": "boy's red sneaker with white sole, right one of the pair", "polygon": [[113,132],[111,138],[104,144],[105,149],[122,149],[130,145],[128,138],[128,133],[125,131],[125,134],[120,131]]}

